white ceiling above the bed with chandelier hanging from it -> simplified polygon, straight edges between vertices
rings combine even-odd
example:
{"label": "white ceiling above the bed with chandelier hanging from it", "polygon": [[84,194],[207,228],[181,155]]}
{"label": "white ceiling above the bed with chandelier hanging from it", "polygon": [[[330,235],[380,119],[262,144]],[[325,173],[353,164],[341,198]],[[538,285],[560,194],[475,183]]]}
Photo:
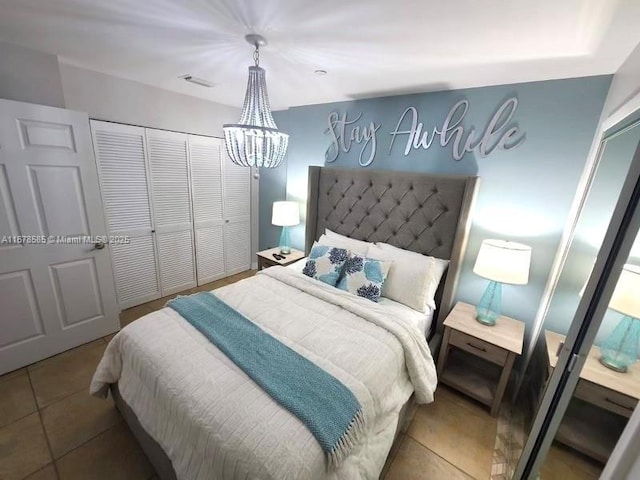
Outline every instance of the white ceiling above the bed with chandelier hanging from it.
{"label": "white ceiling above the bed with chandelier hanging from it", "polygon": [[613,73],[640,42],[638,0],[0,0],[0,12],[0,40],[234,106],[253,63],[244,35],[260,33],[274,110]]}

